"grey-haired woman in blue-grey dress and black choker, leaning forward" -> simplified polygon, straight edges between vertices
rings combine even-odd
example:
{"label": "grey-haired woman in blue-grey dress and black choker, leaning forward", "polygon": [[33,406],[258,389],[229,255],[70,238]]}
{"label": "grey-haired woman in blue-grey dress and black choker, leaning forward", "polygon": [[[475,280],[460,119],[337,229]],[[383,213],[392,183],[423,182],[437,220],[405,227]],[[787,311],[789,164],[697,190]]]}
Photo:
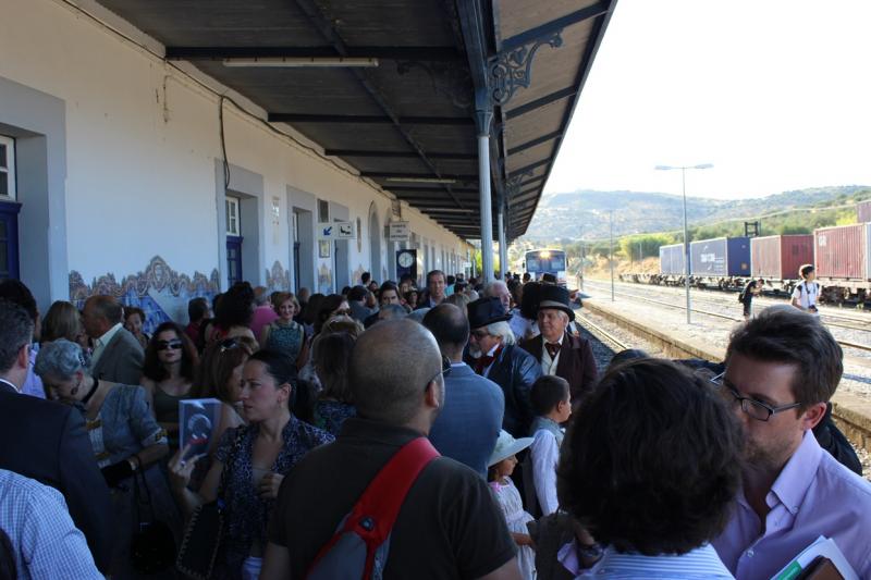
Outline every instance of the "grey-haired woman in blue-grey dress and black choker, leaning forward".
{"label": "grey-haired woman in blue-grey dress and black choker, leaning forward", "polygon": [[[131,539],[137,510],[134,489],[145,479],[155,519],[171,530],[181,518],[158,461],[169,452],[167,436],[148,412],[145,390],[101,381],[85,372],[82,347],[60,338],[46,343],[36,357],[34,372],[42,380],[49,398],[78,408],[85,419],[94,457],[111,491],[115,531],[113,578],[138,578],[131,567]],[[147,508],[146,508],[147,509]],[[150,511],[149,511],[150,515]]]}

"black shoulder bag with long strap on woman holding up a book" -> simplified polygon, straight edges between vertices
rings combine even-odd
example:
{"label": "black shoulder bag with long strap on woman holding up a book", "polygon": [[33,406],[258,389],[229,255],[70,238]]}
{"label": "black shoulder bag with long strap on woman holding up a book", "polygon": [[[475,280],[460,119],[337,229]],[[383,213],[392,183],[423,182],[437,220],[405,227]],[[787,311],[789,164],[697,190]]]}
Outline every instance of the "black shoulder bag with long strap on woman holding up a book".
{"label": "black shoulder bag with long strap on woman holding up a book", "polygon": [[212,578],[226,518],[226,505],[222,494],[226,485],[228,471],[242,445],[243,435],[244,430],[238,429],[236,437],[233,440],[233,448],[230,452],[226,466],[221,472],[218,498],[214,502],[197,506],[187,521],[182,546],[179,548],[179,557],[175,559],[175,569],[187,578],[195,580]]}

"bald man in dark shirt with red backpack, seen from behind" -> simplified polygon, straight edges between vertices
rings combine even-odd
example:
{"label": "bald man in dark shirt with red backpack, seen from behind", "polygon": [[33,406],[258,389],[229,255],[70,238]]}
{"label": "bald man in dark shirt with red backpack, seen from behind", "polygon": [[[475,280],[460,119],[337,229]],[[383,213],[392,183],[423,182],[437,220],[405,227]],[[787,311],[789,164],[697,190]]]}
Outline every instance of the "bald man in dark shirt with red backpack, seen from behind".
{"label": "bald man in dark shirt with red backpack, seen from behind", "polygon": [[261,579],[520,578],[487,483],[426,439],[446,372],[420,324],[360,335],[348,362],[357,417],[282,482]]}

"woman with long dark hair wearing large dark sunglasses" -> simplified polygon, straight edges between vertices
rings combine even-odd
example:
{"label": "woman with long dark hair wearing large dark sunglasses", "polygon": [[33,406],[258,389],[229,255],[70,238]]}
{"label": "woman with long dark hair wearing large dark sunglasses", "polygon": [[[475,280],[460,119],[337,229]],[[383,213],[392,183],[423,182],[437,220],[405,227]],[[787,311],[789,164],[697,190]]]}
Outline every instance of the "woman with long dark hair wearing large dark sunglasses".
{"label": "woman with long dark hair wearing large dark sunglasses", "polygon": [[158,326],[145,349],[142,385],[148,393],[151,415],[167,431],[172,448],[179,446],[179,402],[191,398],[198,363],[194,343],[174,322]]}

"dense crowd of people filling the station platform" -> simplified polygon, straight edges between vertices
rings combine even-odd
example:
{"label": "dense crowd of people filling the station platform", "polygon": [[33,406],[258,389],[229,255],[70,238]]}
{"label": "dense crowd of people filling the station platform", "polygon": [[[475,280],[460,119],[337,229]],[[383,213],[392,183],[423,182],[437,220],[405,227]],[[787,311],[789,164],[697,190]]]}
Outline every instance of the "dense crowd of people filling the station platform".
{"label": "dense crowd of people filling the station platform", "polygon": [[[552,279],[367,273],[238,283],[155,328],[112,296],[41,317],[3,281],[0,579],[756,580],[819,536],[871,578],[819,318],[772,307],[722,362],[600,373],[579,306]],[[192,399],[218,409],[196,453]]]}

